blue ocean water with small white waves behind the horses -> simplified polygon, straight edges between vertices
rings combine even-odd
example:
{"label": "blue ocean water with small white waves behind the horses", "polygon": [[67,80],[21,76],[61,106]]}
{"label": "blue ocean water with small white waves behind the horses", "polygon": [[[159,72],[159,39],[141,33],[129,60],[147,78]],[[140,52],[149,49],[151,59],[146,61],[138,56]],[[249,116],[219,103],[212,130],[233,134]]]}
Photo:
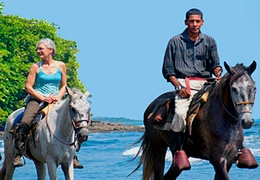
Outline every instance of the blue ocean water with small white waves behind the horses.
{"label": "blue ocean water with small white waves behind the horses", "polygon": [[[113,120],[115,122],[115,120]],[[116,119],[120,122],[120,118]],[[141,126],[140,120],[121,119],[122,124],[133,124]],[[260,120],[249,130],[245,130],[244,144],[251,149],[258,163],[260,163]],[[127,177],[137,166],[139,158],[131,161],[137,153],[140,144],[132,145],[143,132],[111,132],[111,133],[91,133],[77,153],[83,169],[75,169],[75,179],[86,180],[140,180],[142,177],[142,167],[131,176]],[[3,156],[3,139],[0,139],[0,152]],[[167,170],[171,163],[171,154],[166,155]],[[184,171],[178,180],[211,180],[214,179],[214,169],[207,161],[190,158],[191,170]],[[2,162],[3,160],[1,160]],[[28,179],[36,180],[36,170],[34,164],[29,159],[25,159],[26,165],[16,168],[14,180]],[[1,165],[0,162],[0,165]],[[166,171],[165,170],[165,171]],[[61,168],[58,167],[58,179],[64,179]],[[232,166],[229,172],[232,180],[260,180],[260,169],[239,169]],[[49,177],[47,176],[47,179]]]}

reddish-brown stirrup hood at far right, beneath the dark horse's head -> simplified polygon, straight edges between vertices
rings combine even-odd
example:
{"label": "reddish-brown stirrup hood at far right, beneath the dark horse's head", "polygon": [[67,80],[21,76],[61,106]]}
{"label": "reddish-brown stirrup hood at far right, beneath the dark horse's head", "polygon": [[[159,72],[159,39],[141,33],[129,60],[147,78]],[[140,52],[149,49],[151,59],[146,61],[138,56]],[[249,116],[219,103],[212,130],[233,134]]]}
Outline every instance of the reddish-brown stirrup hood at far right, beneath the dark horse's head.
{"label": "reddish-brown stirrup hood at far right, beneath the dark horse's head", "polygon": [[238,168],[254,169],[258,167],[258,163],[248,148],[243,148],[238,152],[236,165]]}

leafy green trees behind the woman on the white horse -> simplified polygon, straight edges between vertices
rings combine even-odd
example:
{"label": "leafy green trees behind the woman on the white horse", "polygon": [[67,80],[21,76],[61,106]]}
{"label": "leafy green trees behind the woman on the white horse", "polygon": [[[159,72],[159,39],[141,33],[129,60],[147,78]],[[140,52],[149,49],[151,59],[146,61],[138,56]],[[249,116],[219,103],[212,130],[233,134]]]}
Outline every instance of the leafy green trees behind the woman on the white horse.
{"label": "leafy green trees behind the woman on the white horse", "polygon": [[26,76],[32,63],[40,61],[35,49],[42,38],[54,40],[57,46],[54,59],[66,63],[68,86],[84,91],[84,84],[78,79],[76,42],[59,37],[59,27],[54,23],[3,15],[3,8],[0,3],[0,122],[24,106]]}

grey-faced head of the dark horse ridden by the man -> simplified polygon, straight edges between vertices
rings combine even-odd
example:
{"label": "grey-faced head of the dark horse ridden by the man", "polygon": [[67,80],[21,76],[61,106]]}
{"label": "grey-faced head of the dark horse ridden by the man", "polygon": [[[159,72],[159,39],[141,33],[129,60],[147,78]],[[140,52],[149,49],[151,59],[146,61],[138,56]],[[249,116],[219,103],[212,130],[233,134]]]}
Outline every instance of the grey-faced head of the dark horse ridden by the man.
{"label": "grey-faced head of the dark horse ridden by the man", "polygon": [[242,64],[230,67],[226,62],[224,66],[230,75],[230,94],[240,125],[244,129],[251,128],[254,124],[251,114],[256,94],[256,85],[251,74],[256,69],[256,62],[253,61],[249,67]]}

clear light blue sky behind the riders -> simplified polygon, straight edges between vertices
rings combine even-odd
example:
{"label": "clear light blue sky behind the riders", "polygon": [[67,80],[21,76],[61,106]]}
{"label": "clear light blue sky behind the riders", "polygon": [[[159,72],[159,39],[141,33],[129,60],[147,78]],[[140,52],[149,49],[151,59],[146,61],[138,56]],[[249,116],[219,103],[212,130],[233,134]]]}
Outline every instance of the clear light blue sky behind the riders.
{"label": "clear light blue sky behind the riders", "polygon": [[[173,90],[162,76],[169,39],[180,34],[185,13],[204,14],[201,31],[218,46],[220,63],[260,62],[259,0],[0,0],[4,15],[46,20],[77,42],[79,79],[92,94],[94,117],[141,120],[146,107]],[[59,47],[57,47],[59,48]],[[259,66],[252,77],[260,87]],[[225,72],[225,71],[224,71]],[[260,119],[260,94],[253,118]]]}

